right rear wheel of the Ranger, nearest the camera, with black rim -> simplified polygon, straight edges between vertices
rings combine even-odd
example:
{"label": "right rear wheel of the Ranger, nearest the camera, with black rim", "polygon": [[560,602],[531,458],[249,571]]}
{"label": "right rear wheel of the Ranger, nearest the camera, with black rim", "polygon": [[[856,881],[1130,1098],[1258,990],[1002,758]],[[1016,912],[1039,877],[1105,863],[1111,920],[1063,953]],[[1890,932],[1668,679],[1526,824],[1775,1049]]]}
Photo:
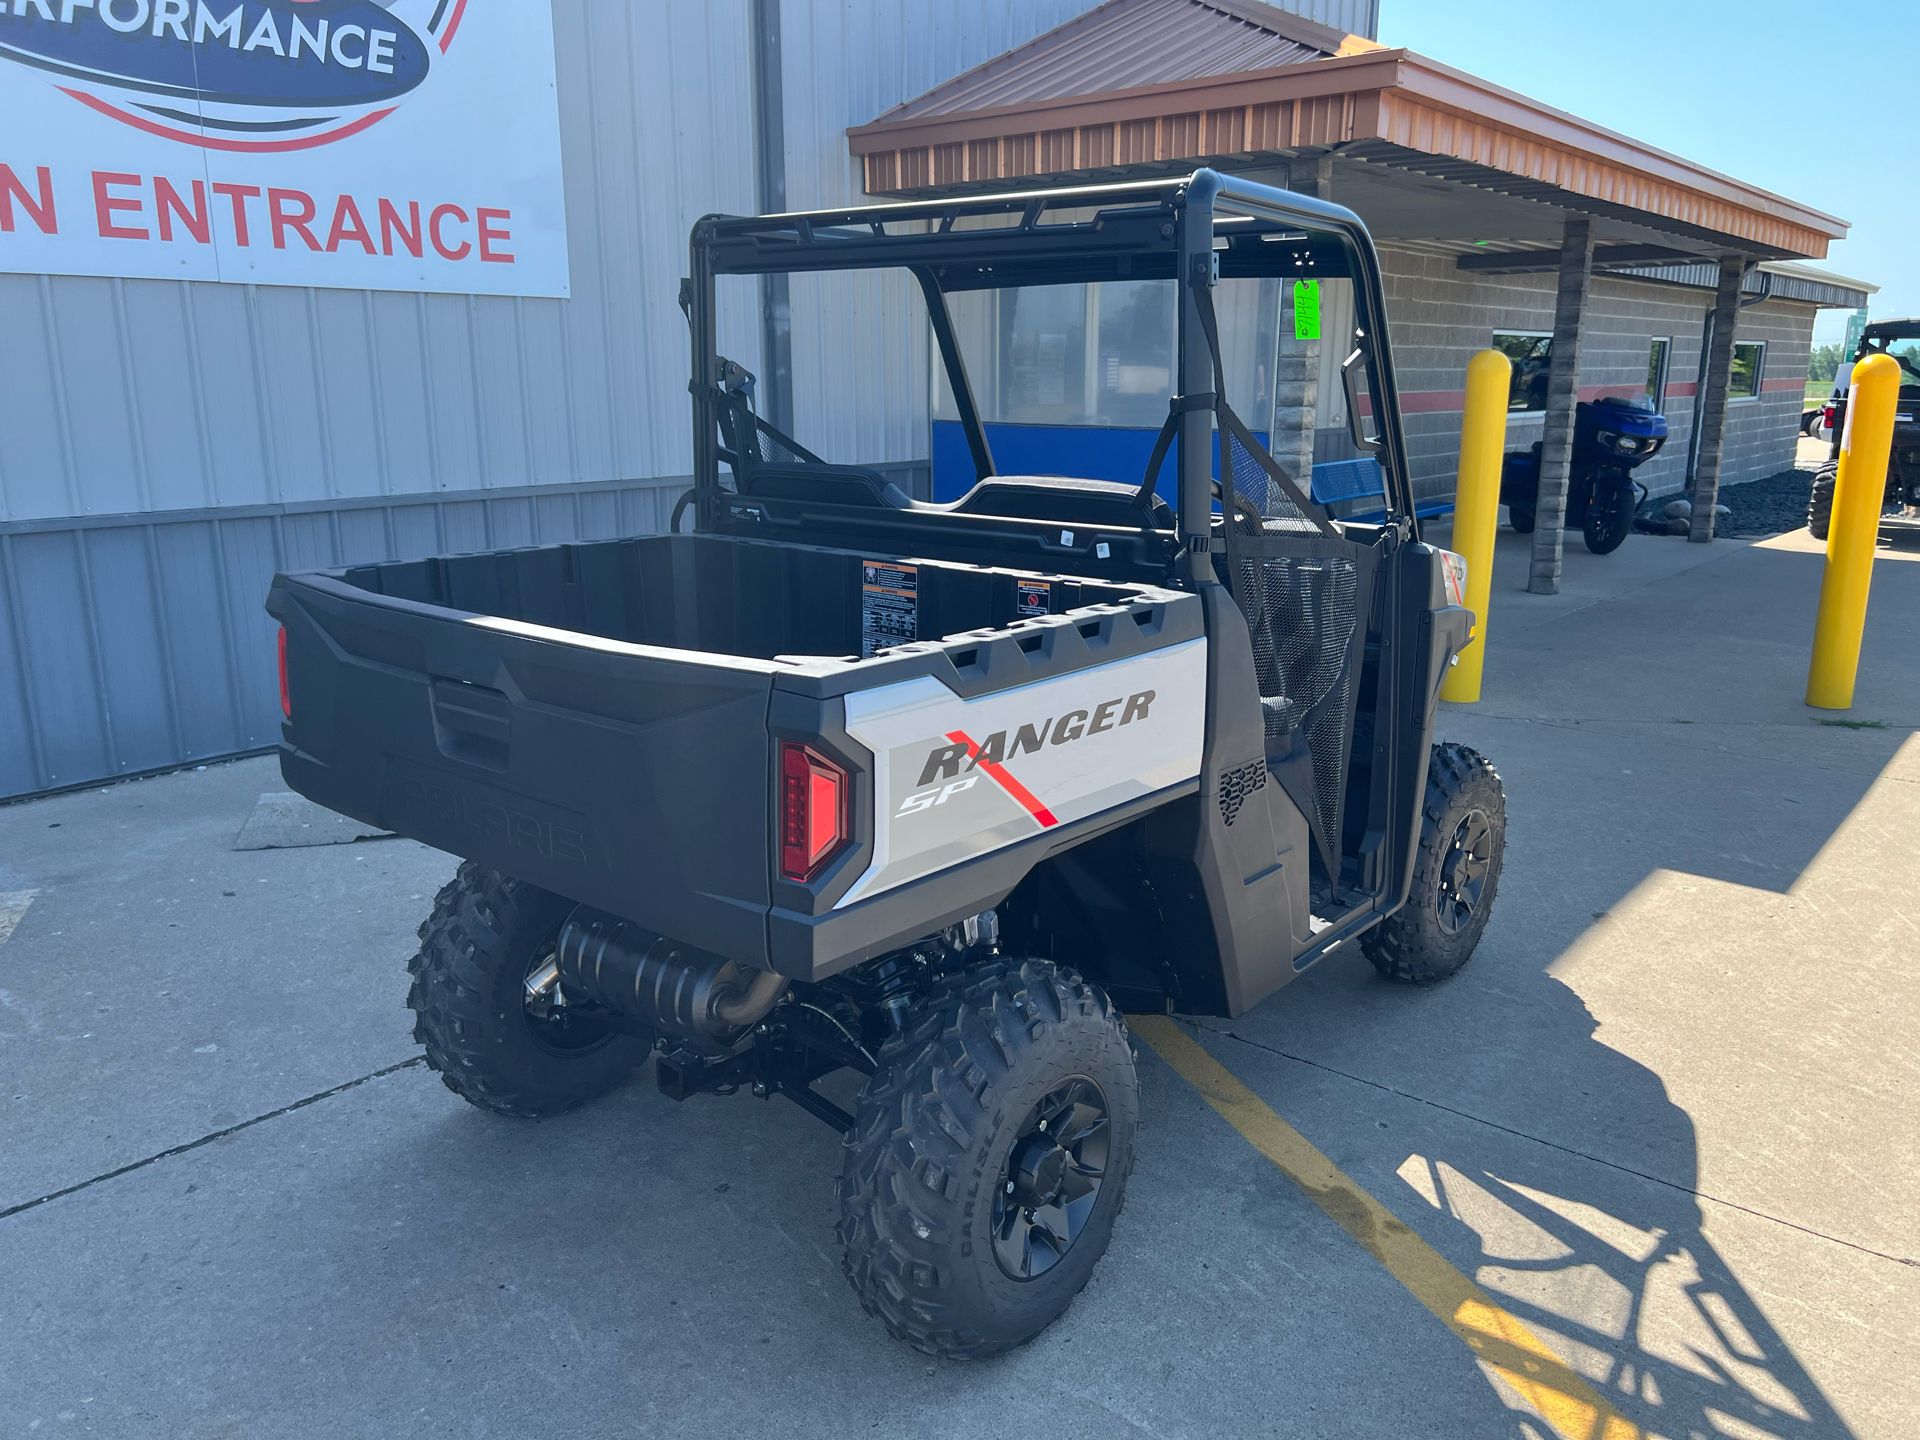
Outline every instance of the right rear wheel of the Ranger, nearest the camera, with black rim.
{"label": "right rear wheel of the Ranger, nearest the camera, with black rim", "polygon": [[1106,1252],[1139,1079],[1112,1000],[1044,960],[937,981],[847,1133],[843,1267],[914,1350],[981,1359],[1044,1331]]}

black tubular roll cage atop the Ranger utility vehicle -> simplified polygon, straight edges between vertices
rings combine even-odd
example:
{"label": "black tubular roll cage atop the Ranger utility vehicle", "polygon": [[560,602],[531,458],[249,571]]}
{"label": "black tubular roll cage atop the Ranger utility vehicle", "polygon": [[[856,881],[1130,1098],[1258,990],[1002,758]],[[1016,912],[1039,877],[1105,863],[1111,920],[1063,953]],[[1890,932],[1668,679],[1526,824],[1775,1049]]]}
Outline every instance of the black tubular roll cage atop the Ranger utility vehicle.
{"label": "black tubular roll cage atop the Ranger utility vehicle", "polygon": [[[981,482],[998,472],[954,336],[947,296],[1031,284],[1179,280],[1175,394],[1154,467],[1140,478],[1139,488],[1140,499],[1150,499],[1152,470],[1158,470],[1162,455],[1171,449],[1177,457],[1177,503],[1171,516],[1164,516],[1171,520],[1171,532],[1160,532],[1158,541],[1148,538],[1142,543],[1140,530],[1160,530],[1144,505],[1139,524],[1114,528],[1133,530],[1116,536],[1116,543],[1125,541],[1129,559],[1150,563],[1160,557],[1171,576],[1187,584],[1212,580],[1212,557],[1221,549],[1213,426],[1215,411],[1223,432],[1233,417],[1217,396],[1225,388],[1225,378],[1219,374],[1219,348],[1213,334],[1213,286],[1223,278],[1286,278],[1302,273],[1321,278],[1346,276],[1354,286],[1354,334],[1329,336],[1329,342],[1346,342],[1352,348],[1342,367],[1354,401],[1350,422],[1356,424],[1356,442],[1371,449],[1382,467],[1386,526],[1396,528],[1405,540],[1419,538],[1394,390],[1380,267],[1365,227],[1357,215],[1340,205],[1212,169],[1131,184],[789,215],[708,215],[699,221],[693,227],[689,278],[682,288],[693,349],[691,499],[697,528],[728,526],[739,501],[722,486],[720,463],[735,461],[747,444],[756,442],[762,447],[772,444],[789,459],[852,474],[851,467],[826,467],[795,442],[770,432],[764,420],[743,420],[739,409],[730,415],[730,405],[739,405],[739,394],[751,378],[716,349],[716,276],[868,269],[906,271],[918,282],[975,478]],[[1365,374],[1371,401],[1367,436],[1357,430],[1363,403],[1354,394],[1356,367]],[[758,434],[743,434],[743,426],[753,426]],[[1286,486],[1296,501],[1309,495],[1309,476],[1284,476],[1265,447],[1256,449],[1254,459],[1267,470],[1271,486]],[[733,468],[737,474],[737,461]],[[1221,492],[1225,509],[1233,507],[1235,490],[1238,486],[1229,478],[1229,490]],[[914,511],[929,509],[947,509],[954,518],[966,515],[972,526],[985,526],[989,532],[995,518],[1006,518],[972,515],[966,501],[954,507],[914,507]],[[1317,507],[1300,505],[1300,509]],[[1327,524],[1325,518],[1319,522]],[[1016,540],[1014,528],[1006,530],[1004,540]]]}

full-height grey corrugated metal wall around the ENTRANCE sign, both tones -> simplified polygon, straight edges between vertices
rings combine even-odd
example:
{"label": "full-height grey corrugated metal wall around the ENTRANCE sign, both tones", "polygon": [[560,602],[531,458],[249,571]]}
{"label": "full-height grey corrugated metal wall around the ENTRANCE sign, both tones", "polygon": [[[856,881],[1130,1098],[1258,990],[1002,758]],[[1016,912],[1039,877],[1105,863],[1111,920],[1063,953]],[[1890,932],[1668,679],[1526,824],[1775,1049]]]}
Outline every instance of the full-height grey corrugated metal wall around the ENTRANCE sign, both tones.
{"label": "full-height grey corrugated metal wall around the ENTRANCE sign, both tones", "polygon": [[553,12],[570,301],[0,275],[0,797],[276,739],[276,568],[660,528],[749,4]]}

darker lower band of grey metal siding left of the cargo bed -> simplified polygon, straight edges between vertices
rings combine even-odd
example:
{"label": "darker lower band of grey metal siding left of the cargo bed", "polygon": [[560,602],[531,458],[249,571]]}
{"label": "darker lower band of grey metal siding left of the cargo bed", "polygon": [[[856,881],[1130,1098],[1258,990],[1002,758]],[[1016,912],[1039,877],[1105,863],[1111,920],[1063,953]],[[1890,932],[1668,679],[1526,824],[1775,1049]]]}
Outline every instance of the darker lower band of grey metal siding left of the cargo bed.
{"label": "darker lower band of grey metal siding left of the cargo bed", "polygon": [[275,570],[662,530],[685,480],[0,528],[0,799],[278,739]]}

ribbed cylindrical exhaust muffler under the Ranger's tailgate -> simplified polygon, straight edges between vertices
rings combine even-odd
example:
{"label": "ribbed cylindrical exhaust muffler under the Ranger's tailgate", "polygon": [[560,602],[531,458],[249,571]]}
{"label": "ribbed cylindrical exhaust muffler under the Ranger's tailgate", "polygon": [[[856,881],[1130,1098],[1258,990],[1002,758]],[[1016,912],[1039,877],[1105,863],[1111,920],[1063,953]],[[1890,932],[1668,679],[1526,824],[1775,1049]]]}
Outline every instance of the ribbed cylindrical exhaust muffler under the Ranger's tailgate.
{"label": "ribbed cylindrical exhaust muffler under the Ranger's tailgate", "polygon": [[605,910],[578,906],[555,943],[561,985],[705,1054],[726,1054],[756,1025],[787,977],[657,935]]}

